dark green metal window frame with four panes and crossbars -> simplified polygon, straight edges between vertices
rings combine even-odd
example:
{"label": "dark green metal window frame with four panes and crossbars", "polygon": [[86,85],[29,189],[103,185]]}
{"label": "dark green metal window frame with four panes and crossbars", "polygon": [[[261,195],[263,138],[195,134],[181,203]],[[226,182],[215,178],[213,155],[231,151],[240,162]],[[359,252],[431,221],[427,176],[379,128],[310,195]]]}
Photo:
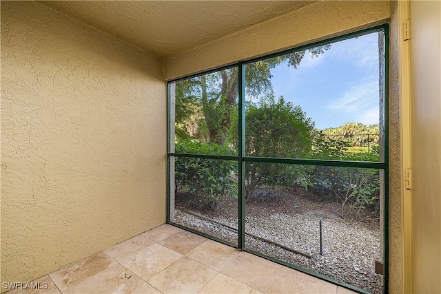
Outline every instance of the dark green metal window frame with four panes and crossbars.
{"label": "dark green metal window frame with four panes and crossbars", "polygon": [[[349,160],[322,160],[322,159],[302,159],[302,158],[271,158],[271,157],[252,157],[246,156],[245,154],[245,65],[248,63],[253,63],[256,61],[262,61],[264,59],[269,59],[272,57],[277,57],[285,54],[289,54],[292,52],[296,52],[299,50],[305,50],[309,48],[313,48],[320,45],[326,45],[327,43],[332,43],[336,41],[342,41],[345,39],[353,38],[356,36],[362,36],[364,34],[368,34],[371,32],[384,32],[384,63],[383,63],[383,72],[384,76],[383,80],[383,90],[384,90],[384,99],[382,101],[382,109],[384,109],[383,115],[383,123],[384,123],[384,150],[383,150],[383,158],[380,158],[380,162],[367,162],[367,161],[349,161]],[[309,43],[307,45],[303,45],[296,48],[291,48],[289,50],[283,50],[280,52],[276,52],[274,54],[268,54],[265,56],[260,56],[254,59],[247,59],[243,61],[238,61],[237,63],[232,63],[225,67],[218,67],[215,70],[211,70],[209,72],[201,72],[198,74],[194,74],[192,76],[186,76],[185,78],[179,78],[176,80],[167,82],[167,223],[173,224],[176,227],[181,227],[181,229],[185,229],[187,231],[192,231],[193,233],[197,233],[198,235],[203,235],[206,238],[216,240],[218,242],[222,242],[224,244],[228,244],[229,246],[234,246],[238,248],[240,251],[247,251],[249,253],[253,253],[262,258],[266,258],[268,260],[277,262],[279,264],[283,264],[285,266],[289,266],[292,269],[296,269],[298,271],[302,271],[309,275],[313,275],[322,280],[326,280],[328,282],[338,284],[340,286],[344,286],[345,288],[350,288],[354,291],[358,291],[360,293],[369,293],[361,288],[353,286],[351,284],[347,284],[345,282],[340,282],[331,277],[327,277],[326,275],[322,275],[320,273],[316,273],[314,271],[310,271],[309,269],[304,269],[300,266],[296,266],[294,264],[289,264],[287,262],[283,262],[281,260],[277,260],[276,258],[271,258],[267,255],[262,255],[256,251],[251,251],[245,248],[245,165],[247,162],[267,162],[267,163],[281,163],[281,164],[291,164],[291,165],[318,165],[318,166],[326,166],[326,167],[360,167],[367,169],[379,169],[383,174],[382,187],[384,189],[384,201],[382,202],[384,214],[383,214],[383,285],[384,285],[384,293],[388,293],[388,280],[389,280],[389,118],[388,118],[388,109],[389,109],[389,24],[378,25],[373,28],[367,28],[365,30],[360,30],[358,32],[353,32],[349,34],[344,34],[342,36],[336,36],[331,39],[326,39],[324,41],[319,41],[316,43]],[[381,64],[381,63],[380,63]],[[216,72],[218,70],[224,70],[231,67],[238,67],[238,156],[218,156],[218,155],[208,155],[208,154],[183,154],[176,153],[171,149],[172,140],[171,138],[171,118],[172,118],[172,99],[171,99],[171,84],[176,83],[178,81],[183,81],[187,78],[192,78],[195,76],[200,76],[201,74],[209,74],[211,72]],[[174,102],[173,102],[174,103]],[[203,159],[218,159],[218,160],[235,160],[238,162],[238,244],[231,244],[226,242],[225,240],[220,240],[212,235],[207,235],[206,233],[202,233],[201,231],[196,231],[194,229],[190,229],[187,227],[183,227],[180,224],[176,224],[171,221],[170,218],[170,210],[171,210],[171,199],[170,199],[170,190],[172,185],[171,182],[171,158],[203,158]]]}

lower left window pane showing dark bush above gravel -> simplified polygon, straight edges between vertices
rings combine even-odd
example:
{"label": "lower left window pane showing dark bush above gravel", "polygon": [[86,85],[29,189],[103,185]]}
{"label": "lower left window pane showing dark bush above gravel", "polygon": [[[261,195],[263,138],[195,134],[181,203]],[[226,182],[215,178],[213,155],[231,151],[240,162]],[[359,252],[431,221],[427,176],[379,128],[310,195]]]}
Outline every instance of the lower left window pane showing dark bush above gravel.
{"label": "lower left window pane showing dark bush above gravel", "polygon": [[[171,219],[176,224],[238,244],[237,161],[171,158]],[[173,169],[172,169],[173,170]]]}

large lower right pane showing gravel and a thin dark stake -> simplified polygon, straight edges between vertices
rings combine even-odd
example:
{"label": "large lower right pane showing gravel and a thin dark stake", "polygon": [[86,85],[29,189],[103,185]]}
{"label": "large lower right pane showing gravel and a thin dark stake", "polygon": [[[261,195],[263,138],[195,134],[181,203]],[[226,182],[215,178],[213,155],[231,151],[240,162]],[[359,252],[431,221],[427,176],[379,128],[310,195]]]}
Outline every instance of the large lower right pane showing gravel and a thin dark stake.
{"label": "large lower right pane showing gravel and a thin dark stake", "polygon": [[247,249],[382,293],[380,171],[247,162],[246,182]]}

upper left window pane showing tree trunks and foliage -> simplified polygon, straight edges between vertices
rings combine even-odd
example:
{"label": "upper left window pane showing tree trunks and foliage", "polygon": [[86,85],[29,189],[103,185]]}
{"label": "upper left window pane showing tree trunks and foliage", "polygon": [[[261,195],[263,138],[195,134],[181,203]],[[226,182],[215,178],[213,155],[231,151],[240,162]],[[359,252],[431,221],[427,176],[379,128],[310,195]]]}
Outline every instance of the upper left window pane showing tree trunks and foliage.
{"label": "upper left window pane showing tree trunks and foliage", "polygon": [[237,137],[237,67],[187,78],[170,87],[171,151],[236,155],[232,142]]}

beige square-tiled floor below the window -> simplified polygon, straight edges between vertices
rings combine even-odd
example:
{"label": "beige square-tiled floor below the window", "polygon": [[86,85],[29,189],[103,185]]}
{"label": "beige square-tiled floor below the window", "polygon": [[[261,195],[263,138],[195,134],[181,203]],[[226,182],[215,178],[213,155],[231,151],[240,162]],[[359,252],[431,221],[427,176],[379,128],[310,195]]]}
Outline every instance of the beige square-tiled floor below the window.
{"label": "beige square-tiled floor below the window", "polygon": [[152,229],[13,293],[355,293],[178,229]]}

